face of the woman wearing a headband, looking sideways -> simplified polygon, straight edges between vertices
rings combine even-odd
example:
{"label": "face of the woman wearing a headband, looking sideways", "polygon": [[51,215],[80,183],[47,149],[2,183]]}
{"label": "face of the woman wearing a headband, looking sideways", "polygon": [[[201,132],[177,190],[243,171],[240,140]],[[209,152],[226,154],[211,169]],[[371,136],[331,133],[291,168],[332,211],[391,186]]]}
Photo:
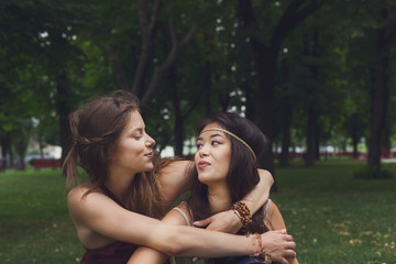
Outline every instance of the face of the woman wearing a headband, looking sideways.
{"label": "face of the woman wearing a headband, looking sideways", "polygon": [[[221,128],[218,123],[205,127]],[[197,141],[195,165],[198,170],[198,179],[202,184],[226,183],[231,160],[231,141],[221,131],[206,131]]]}

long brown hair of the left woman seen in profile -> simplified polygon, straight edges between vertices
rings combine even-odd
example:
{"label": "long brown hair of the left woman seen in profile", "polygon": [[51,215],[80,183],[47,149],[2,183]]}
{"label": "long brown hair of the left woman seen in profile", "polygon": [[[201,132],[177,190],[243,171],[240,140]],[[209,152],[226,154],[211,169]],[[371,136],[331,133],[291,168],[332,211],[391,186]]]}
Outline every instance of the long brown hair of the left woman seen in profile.
{"label": "long brown hair of the left woman seen in profile", "polygon": [[[77,165],[87,172],[88,182],[94,186],[90,191],[105,184],[111,155],[133,111],[139,111],[138,97],[128,91],[113,91],[69,114],[75,142],[64,164],[68,187],[78,182]],[[129,210],[157,217],[160,211],[156,206],[162,196],[158,161],[156,153],[153,172],[142,172],[141,176],[134,177],[129,190],[129,202],[124,205]]]}

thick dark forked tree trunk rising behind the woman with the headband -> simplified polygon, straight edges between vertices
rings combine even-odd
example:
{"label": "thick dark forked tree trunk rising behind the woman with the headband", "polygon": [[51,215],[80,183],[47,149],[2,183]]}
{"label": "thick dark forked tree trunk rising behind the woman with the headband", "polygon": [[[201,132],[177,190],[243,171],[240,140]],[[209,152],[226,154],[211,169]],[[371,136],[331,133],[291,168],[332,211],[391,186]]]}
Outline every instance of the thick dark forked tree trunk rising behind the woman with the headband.
{"label": "thick dark forked tree trunk rising behind the woman with the headband", "polygon": [[[306,3],[306,1],[302,0],[292,0],[274,28],[268,44],[265,44],[261,37],[263,32],[255,18],[252,2],[250,0],[239,0],[238,12],[242,20],[244,31],[249,33],[251,37],[250,43],[252,45],[257,74],[255,110],[260,112],[260,114],[254,116],[256,117],[257,127],[268,138],[270,142],[273,141],[275,132],[273,101],[277,58],[282,44],[288,33],[318,8],[319,4],[317,1]],[[267,155],[260,158],[258,165],[268,169],[273,176],[275,175],[274,155],[271,145]],[[276,189],[275,183],[273,190],[276,191]]]}

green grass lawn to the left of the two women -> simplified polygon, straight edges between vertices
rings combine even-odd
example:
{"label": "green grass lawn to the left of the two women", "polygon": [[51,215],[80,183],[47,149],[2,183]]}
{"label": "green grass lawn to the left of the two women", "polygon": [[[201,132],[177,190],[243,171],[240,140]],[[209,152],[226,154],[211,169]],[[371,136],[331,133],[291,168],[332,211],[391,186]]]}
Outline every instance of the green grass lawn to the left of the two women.
{"label": "green grass lawn to the left of the two women", "polygon": [[0,173],[0,263],[77,263],[59,169]]}

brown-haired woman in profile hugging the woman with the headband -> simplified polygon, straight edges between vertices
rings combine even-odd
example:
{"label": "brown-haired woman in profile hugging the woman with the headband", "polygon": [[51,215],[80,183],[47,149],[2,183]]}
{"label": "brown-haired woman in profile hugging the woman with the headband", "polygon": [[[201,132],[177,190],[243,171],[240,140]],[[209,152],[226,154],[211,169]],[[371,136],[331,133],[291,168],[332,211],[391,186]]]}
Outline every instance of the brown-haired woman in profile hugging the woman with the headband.
{"label": "brown-haired woman in profile hugging the woman with the headband", "polygon": [[[88,174],[88,180],[74,187],[67,197],[86,249],[81,263],[127,263],[139,245],[184,256],[246,255],[255,251],[255,238],[156,220],[189,186],[191,178],[185,172],[190,162],[160,163],[135,96],[114,92],[96,99],[70,114],[70,125],[75,144],[65,163],[68,183],[78,178],[77,163]],[[252,211],[266,199],[268,185],[271,175],[264,173],[260,187],[246,194],[243,201]],[[224,219],[231,223],[224,224]],[[241,226],[232,210],[215,218],[217,229],[238,230]],[[292,237],[282,232],[262,234],[260,241],[278,254],[294,248]]]}

